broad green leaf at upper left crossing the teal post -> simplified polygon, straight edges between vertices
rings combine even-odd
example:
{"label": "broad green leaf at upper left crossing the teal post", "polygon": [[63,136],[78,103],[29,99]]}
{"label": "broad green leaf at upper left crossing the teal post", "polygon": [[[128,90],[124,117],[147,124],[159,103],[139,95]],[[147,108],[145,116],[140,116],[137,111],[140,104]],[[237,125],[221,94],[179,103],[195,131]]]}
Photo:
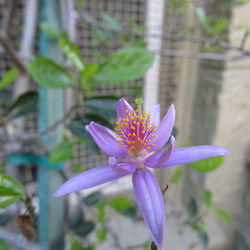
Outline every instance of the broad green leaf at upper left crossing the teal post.
{"label": "broad green leaf at upper left crossing the teal post", "polygon": [[28,63],[28,70],[34,80],[49,88],[67,88],[74,83],[70,73],[49,58],[37,57]]}

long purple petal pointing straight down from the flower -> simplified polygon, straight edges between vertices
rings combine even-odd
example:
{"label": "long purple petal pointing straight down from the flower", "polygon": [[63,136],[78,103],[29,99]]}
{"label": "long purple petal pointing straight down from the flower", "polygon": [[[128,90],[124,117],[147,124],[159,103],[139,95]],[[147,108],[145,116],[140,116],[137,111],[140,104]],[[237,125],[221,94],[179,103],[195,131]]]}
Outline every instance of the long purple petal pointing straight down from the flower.
{"label": "long purple petal pointing straight down from the flower", "polygon": [[165,210],[159,184],[154,175],[144,168],[134,173],[133,186],[142,216],[154,242],[161,248],[165,234]]}

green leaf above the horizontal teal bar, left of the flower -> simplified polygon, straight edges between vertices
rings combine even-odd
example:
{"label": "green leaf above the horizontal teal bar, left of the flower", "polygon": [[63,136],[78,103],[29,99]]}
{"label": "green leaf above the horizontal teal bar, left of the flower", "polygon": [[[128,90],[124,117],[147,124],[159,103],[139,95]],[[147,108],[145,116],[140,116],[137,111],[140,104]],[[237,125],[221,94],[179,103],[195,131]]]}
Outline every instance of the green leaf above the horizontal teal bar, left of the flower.
{"label": "green leaf above the horizontal teal bar, left of the flower", "polygon": [[56,145],[49,154],[49,161],[51,163],[59,163],[68,161],[73,157],[74,143],[67,139]]}

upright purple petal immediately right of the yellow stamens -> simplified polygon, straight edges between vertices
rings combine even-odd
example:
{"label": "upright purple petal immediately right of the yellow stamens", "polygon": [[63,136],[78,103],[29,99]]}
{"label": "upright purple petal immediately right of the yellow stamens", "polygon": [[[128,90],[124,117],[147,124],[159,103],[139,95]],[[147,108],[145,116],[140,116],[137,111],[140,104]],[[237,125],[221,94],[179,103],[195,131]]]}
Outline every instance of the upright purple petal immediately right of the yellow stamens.
{"label": "upright purple petal immediately right of the yellow stamens", "polygon": [[152,144],[156,144],[156,146],[153,147],[152,150],[158,150],[167,143],[174,127],[174,121],[175,108],[172,104],[157,128],[157,132],[155,133],[156,137],[152,140]]}

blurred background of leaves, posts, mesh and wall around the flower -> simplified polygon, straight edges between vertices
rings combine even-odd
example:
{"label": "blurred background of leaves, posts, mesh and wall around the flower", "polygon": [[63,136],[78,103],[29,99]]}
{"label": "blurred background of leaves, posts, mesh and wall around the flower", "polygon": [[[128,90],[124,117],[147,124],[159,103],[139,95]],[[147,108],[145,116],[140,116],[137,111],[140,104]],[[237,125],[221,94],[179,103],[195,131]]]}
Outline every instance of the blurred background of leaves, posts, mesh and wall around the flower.
{"label": "blurred background of leaves, posts, mesh and wall around the flower", "polygon": [[84,126],[116,102],[174,103],[178,147],[231,153],[155,171],[168,250],[250,249],[249,0],[0,0],[0,249],[153,249],[130,178],[54,198],[106,163]]}

